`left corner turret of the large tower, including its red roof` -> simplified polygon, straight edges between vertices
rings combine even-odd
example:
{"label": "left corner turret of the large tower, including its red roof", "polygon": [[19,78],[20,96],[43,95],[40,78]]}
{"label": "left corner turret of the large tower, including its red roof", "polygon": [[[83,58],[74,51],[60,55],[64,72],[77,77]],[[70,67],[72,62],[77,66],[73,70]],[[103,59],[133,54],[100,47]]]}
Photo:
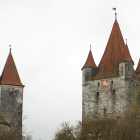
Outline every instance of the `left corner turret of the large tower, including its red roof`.
{"label": "left corner turret of the large tower, including its red roof", "polygon": [[86,60],[84,66],[81,70],[82,70],[82,83],[85,82],[85,81],[91,81],[92,78],[98,72],[98,68],[97,68],[97,66],[94,62],[91,49],[89,51],[87,60]]}

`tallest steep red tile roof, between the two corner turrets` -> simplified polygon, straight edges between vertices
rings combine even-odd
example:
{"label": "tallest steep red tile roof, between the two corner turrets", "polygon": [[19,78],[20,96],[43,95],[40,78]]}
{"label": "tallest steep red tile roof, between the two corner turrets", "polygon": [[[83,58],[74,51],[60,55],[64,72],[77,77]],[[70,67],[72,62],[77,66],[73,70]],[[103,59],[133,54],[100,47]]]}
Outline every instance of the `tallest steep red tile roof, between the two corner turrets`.
{"label": "tallest steep red tile roof, between the two corner turrets", "polygon": [[118,22],[114,22],[113,28],[99,63],[99,71],[93,79],[119,76],[118,63],[124,52],[124,40]]}

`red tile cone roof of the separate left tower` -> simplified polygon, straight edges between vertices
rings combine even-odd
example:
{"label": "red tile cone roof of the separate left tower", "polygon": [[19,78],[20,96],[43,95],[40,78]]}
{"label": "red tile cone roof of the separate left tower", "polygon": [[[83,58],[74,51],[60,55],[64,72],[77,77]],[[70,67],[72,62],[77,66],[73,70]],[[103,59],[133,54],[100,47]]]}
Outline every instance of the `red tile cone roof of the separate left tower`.
{"label": "red tile cone roof of the separate left tower", "polygon": [[9,53],[7,62],[1,75],[1,84],[24,86],[21,83],[11,52]]}

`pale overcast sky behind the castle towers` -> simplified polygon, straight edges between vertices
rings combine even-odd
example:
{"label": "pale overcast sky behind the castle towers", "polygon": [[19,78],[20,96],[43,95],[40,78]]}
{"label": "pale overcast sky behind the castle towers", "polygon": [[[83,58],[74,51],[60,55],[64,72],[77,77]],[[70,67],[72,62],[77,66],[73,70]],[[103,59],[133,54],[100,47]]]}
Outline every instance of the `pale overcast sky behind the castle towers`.
{"label": "pale overcast sky behind the castle towers", "polygon": [[0,71],[9,45],[24,88],[23,124],[52,140],[63,121],[82,119],[82,77],[90,45],[98,65],[117,19],[136,68],[139,0],[0,0]]}

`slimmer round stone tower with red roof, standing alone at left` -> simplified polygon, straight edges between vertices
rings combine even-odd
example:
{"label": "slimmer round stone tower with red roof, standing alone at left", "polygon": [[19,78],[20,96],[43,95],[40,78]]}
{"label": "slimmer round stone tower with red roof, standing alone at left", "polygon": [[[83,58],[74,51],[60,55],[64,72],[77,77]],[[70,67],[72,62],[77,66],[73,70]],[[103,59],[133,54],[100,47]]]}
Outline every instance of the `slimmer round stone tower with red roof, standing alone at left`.
{"label": "slimmer round stone tower with red roof, standing alone at left", "polygon": [[22,135],[23,88],[10,49],[0,77],[0,114],[10,126],[9,132],[16,131],[17,139]]}

